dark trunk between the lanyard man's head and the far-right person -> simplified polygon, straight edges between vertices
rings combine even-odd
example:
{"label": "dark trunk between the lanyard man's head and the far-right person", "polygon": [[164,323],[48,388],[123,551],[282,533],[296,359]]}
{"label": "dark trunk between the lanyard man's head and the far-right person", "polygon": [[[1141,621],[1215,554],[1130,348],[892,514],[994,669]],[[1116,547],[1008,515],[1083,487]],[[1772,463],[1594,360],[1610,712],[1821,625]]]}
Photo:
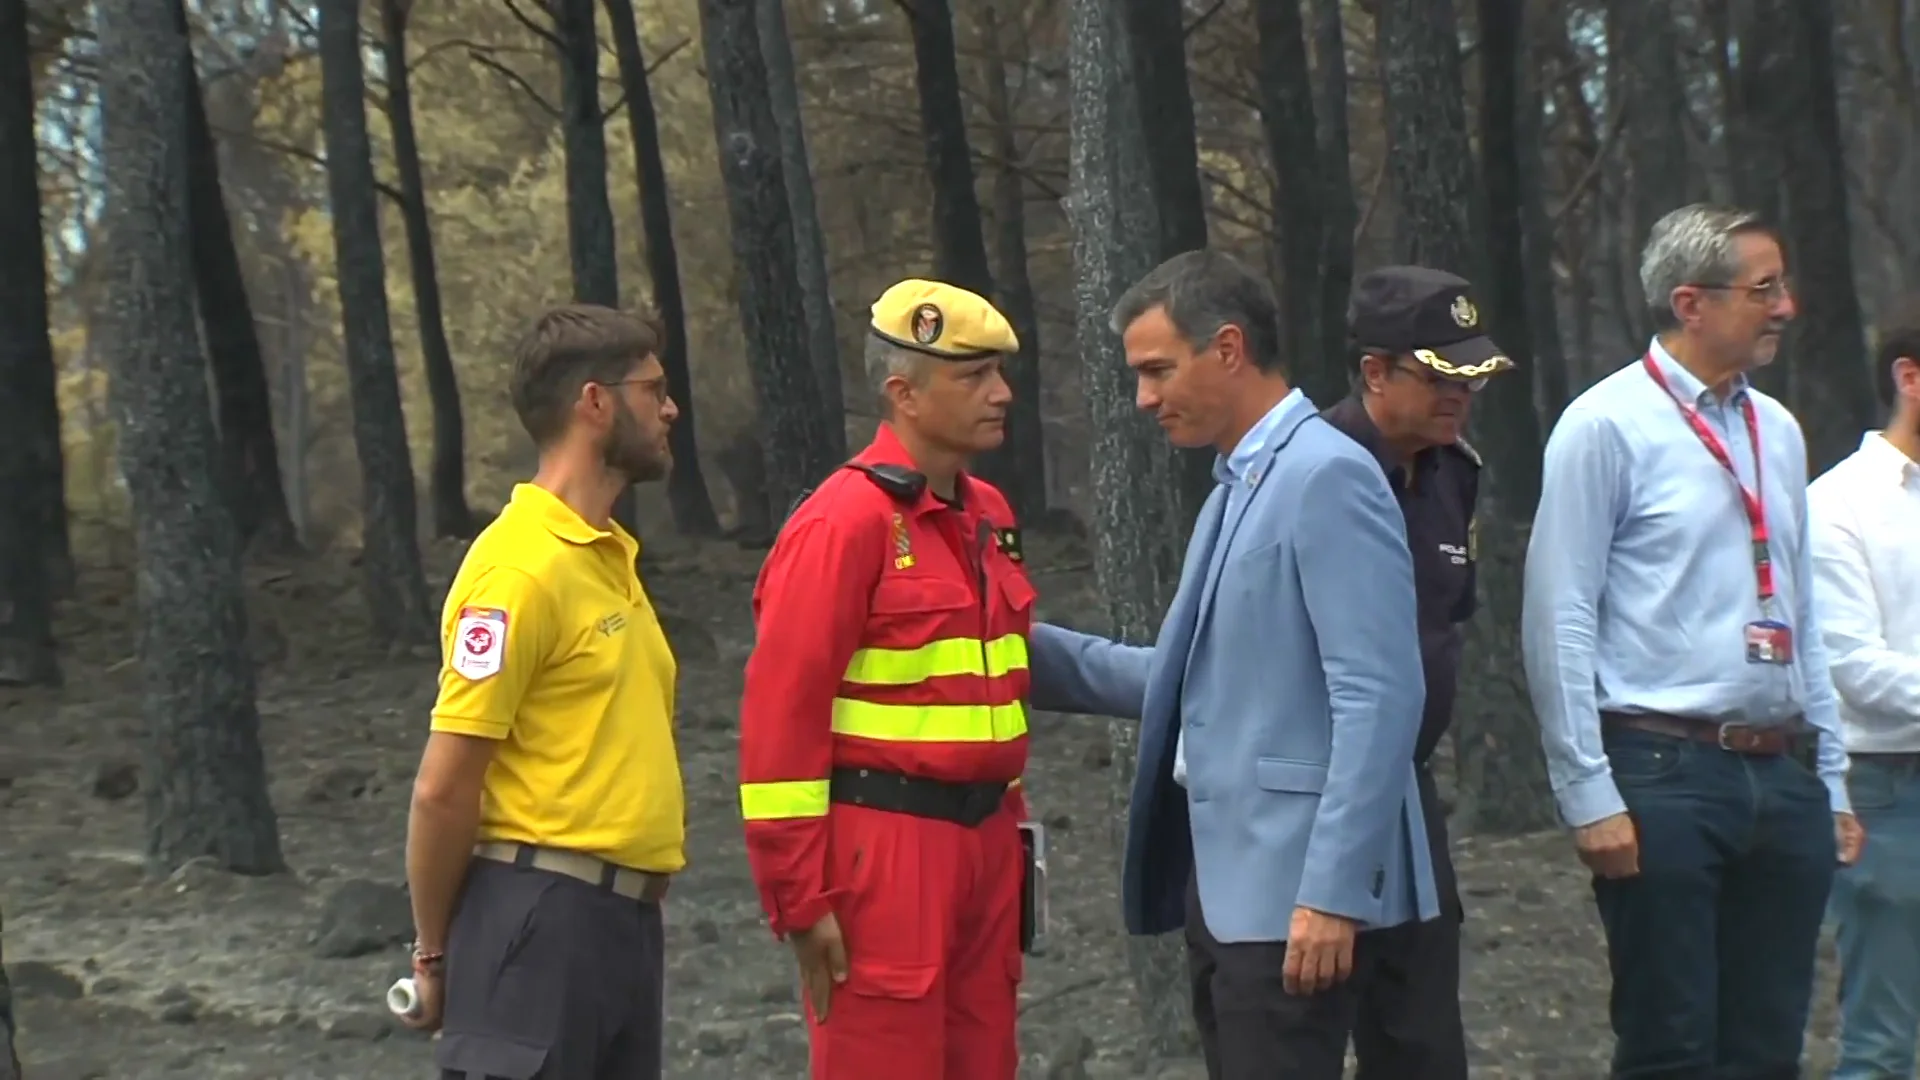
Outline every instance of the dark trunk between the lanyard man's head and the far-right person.
{"label": "dark trunk between the lanyard man's head and the far-right person", "polygon": [[1807,430],[1809,475],[1818,475],[1853,454],[1860,430],[1874,427],[1880,398],[1853,277],[1847,156],[1834,86],[1834,4],[1780,2],[1791,42],[1791,81],[1780,88],[1788,94],[1786,236],[1799,300],[1784,352],[1793,411]]}

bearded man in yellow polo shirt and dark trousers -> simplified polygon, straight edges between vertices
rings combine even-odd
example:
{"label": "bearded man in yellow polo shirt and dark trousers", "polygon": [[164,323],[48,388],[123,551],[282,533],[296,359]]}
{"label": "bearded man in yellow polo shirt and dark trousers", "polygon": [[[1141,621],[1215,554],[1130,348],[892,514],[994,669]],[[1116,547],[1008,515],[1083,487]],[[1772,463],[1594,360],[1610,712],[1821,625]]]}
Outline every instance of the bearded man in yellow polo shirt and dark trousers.
{"label": "bearded man in yellow polo shirt and dark trousers", "polygon": [[660,1076],[660,897],[685,865],[674,657],[614,498],[659,480],[660,327],[547,311],[513,405],[540,473],[467,552],[442,617],[407,882],[447,1080]]}

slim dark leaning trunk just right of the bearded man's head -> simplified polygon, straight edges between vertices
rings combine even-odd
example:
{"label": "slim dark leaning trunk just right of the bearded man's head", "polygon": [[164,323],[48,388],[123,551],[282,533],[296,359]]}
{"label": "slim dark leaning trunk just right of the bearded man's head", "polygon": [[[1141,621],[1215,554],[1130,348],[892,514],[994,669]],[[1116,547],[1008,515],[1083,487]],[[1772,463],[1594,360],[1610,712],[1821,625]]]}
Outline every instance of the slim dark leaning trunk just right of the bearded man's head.
{"label": "slim dark leaning trunk just right of the bearded man's head", "polygon": [[634,175],[639,179],[639,229],[647,240],[647,277],[653,279],[653,307],[666,327],[660,369],[666,392],[680,405],[680,419],[666,432],[674,452],[674,471],[666,477],[666,503],[674,528],[685,536],[718,536],[720,519],[701,469],[699,436],[693,427],[693,367],[687,359],[687,302],[680,292],[680,250],[674,246],[674,202],[666,190],[666,161],[660,158],[660,127],[653,111],[647,60],[634,25],[634,0],[607,0],[607,27],[620,61],[626,92],[626,121],[634,138]]}

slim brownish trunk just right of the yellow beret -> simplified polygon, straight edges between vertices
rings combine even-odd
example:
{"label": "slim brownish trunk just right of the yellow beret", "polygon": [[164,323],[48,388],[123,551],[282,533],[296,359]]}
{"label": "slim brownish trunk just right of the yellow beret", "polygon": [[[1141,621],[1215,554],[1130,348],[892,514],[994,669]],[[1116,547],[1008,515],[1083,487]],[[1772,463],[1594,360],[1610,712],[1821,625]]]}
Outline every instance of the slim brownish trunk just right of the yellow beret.
{"label": "slim brownish trunk just right of the yellow beret", "polygon": [[1000,286],[998,307],[1020,336],[1020,356],[1008,357],[1006,382],[1014,400],[1006,407],[1006,442],[991,455],[1006,463],[983,465],[1006,494],[1020,521],[1046,511],[1046,427],[1041,421],[1041,317],[1027,273],[1027,181],[1021,175],[1014,108],[1006,92],[1006,40],[998,4],[979,6],[979,33],[987,46],[987,113],[993,121],[993,231]]}

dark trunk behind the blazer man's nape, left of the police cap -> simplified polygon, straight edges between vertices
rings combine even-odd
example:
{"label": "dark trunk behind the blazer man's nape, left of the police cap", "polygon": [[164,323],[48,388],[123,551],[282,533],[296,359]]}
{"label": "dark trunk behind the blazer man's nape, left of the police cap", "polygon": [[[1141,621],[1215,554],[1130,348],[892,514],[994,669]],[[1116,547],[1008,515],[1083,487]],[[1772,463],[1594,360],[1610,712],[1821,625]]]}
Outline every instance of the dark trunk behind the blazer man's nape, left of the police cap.
{"label": "dark trunk behind the blazer man's nape, left of the police cap", "polygon": [[[1344,350],[1325,352],[1321,327],[1321,244],[1327,233],[1321,202],[1329,190],[1298,0],[1258,0],[1254,31],[1260,38],[1260,121],[1273,165],[1273,244],[1281,265],[1277,284],[1286,359],[1294,384],[1308,398],[1334,402],[1346,394],[1346,357]],[[1344,315],[1340,321],[1346,323]]]}

